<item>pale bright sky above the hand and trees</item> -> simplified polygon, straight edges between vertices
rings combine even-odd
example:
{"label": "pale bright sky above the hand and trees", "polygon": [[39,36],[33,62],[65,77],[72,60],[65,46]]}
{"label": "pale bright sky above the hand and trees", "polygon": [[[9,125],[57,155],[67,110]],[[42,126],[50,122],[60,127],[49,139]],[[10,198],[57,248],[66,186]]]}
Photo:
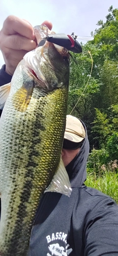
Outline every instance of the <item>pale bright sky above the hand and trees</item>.
{"label": "pale bright sky above the hand and trees", "polygon": [[[56,33],[90,36],[98,20],[106,21],[111,5],[118,8],[118,0],[0,0],[0,30],[7,16],[15,15],[28,20],[33,27],[50,20]],[[0,67],[2,64],[0,51]]]}

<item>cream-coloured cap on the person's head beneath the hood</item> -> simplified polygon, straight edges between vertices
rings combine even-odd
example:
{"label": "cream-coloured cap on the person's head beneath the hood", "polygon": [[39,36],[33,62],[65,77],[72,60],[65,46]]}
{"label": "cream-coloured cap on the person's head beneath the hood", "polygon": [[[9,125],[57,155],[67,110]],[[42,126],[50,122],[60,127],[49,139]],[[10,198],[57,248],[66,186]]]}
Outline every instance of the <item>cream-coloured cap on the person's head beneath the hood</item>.
{"label": "cream-coloured cap on the person's head beneath the hood", "polygon": [[85,128],[80,120],[71,115],[67,115],[64,139],[68,139],[73,142],[81,142],[85,136]]}

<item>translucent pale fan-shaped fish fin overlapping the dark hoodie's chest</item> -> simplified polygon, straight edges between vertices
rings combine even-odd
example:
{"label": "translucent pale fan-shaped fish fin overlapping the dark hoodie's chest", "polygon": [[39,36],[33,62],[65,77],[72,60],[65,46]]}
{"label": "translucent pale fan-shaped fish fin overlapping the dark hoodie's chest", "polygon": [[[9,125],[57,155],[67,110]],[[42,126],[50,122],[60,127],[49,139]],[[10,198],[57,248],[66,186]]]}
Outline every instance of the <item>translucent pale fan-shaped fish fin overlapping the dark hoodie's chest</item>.
{"label": "translucent pale fan-shaped fish fin overlapping the dark hoodie's chest", "polygon": [[44,193],[45,192],[59,192],[70,196],[72,189],[62,158],[60,158],[58,171],[54,175],[53,180]]}

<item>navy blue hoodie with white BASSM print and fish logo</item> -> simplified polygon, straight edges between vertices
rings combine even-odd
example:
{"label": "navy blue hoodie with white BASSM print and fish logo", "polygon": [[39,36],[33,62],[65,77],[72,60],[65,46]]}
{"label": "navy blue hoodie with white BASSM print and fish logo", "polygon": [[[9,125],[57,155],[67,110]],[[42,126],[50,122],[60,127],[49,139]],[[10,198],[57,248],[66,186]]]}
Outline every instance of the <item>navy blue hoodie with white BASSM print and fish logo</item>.
{"label": "navy blue hoodie with white BASSM print and fish logo", "polygon": [[[1,85],[10,82],[7,75],[5,80],[3,68],[0,80]],[[86,130],[80,152],[66,166],[71,196],[56,192],[42,196],[31,231],[29,256],[118,256],[118,205],[111,197],[84,185],[88,155]]]}

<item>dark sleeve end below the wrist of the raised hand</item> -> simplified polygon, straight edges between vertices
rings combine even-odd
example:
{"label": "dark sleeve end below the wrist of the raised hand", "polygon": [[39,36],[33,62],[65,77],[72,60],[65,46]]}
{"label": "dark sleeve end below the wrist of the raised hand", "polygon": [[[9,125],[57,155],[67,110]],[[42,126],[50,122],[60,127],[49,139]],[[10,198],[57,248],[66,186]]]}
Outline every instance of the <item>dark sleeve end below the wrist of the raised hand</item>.
{"label": "dark sleeve end below the wrist of the raised hand", "polygon": [[12,76],[5,72],[5,64],[0,69],[0,86],[11,82]]}

